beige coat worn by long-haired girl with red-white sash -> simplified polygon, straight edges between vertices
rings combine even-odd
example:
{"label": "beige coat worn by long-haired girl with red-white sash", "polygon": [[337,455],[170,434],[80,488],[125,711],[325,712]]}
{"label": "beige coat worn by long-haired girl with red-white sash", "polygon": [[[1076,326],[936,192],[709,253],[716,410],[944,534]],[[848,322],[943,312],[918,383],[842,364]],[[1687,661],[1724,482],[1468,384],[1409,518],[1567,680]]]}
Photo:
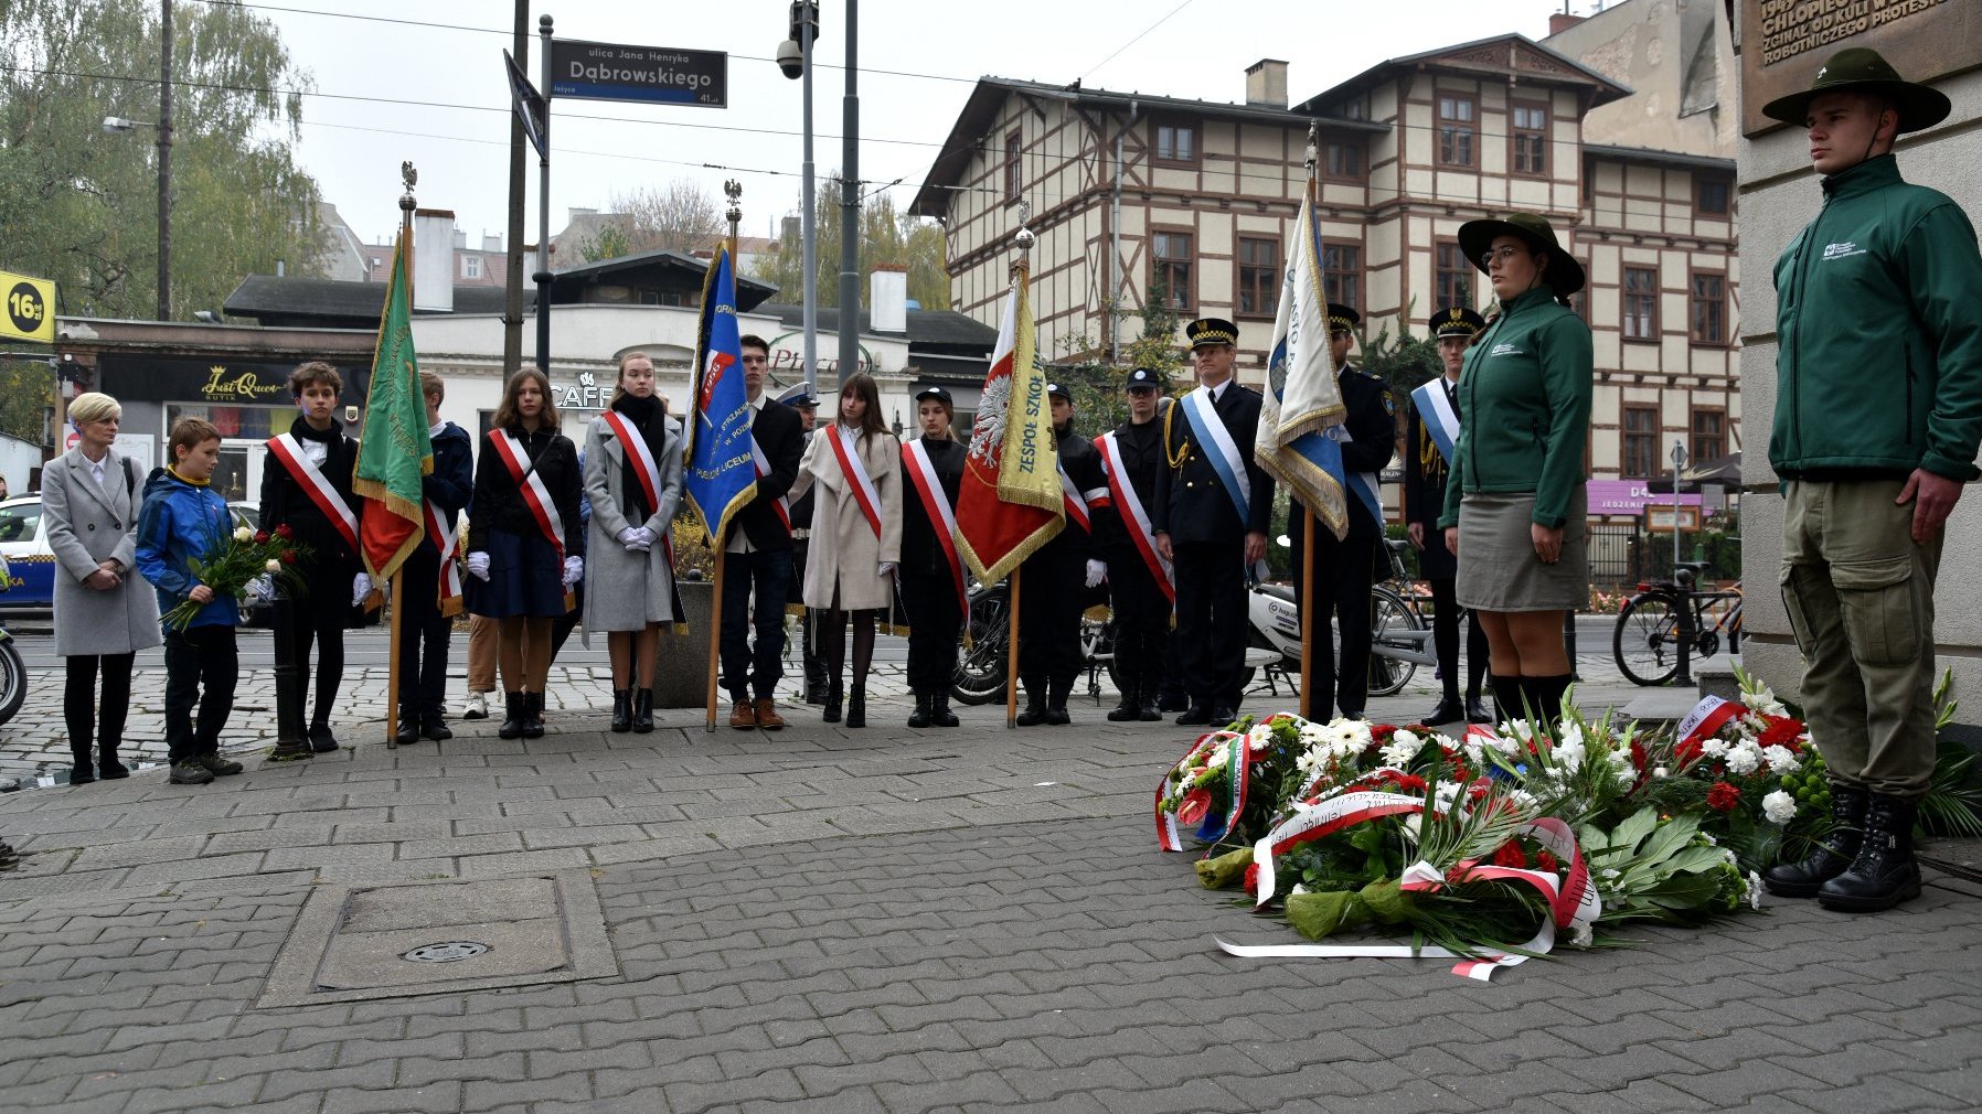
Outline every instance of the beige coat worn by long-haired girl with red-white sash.
{"label": "beige coat worn by long-haired girl with red-white sash", "polygon": [[813,503],[813,543],[805,557],[805,607],[844,611],[886,609],[890,581],[876,575],[882,563],[902,561],[902,442],[878,434],[860,448],[860,462],[880,496],[880,537],[852,496],[852,480],[840,474],[840,458],[828,438],[834,426],[821,426],[805,446],[791,500],[819,484]]}

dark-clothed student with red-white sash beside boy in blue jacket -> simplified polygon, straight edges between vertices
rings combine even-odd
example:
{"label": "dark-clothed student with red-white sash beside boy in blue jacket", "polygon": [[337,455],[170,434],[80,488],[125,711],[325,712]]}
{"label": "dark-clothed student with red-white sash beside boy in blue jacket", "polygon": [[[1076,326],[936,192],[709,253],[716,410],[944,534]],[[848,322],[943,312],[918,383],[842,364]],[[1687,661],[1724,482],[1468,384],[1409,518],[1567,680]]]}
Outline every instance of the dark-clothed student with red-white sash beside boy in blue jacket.
{"label": "dark-clothed student with red-white sash beside boy in blue jacket", "polygon": [[[345,436],[337,420],[337,396],[345,377],[323,361],[309,361],[289,373],[289,394],[301,410],[289,432],[270,438],[262,462],[260,529],[287,525],[309,547],[297,573],[309,591],[291,607],[287,630],[295,668],[309,678],[309,644],[317,644],[317,700],[309,712],[309,749],[337,749],[331,733],[331,706],[345,678],[345,626],[351,613],[371,595],[371,577],[359,557],[359,507],[351,476],[359,464],[359,442]],[[277,630],[275,636],[283,636]],[[303,755],[309,757],[309,755]]]}

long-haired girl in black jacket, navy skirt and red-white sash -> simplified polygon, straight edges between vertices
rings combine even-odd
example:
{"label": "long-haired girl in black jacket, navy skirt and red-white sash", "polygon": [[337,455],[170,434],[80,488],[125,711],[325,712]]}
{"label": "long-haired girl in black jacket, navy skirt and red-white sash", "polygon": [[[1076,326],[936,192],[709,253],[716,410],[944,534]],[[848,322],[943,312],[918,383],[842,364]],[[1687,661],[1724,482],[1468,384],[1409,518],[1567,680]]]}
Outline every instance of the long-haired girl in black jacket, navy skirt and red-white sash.
{"label": "long-haired girl in black jacket, navy skirt and red-white sash", "polygon": [[557,422],[551,381],[525,367],[509,377],[476,462],[468,611],[497,620],[505,739],[543,735],[551,622],[585,575],[579,450]]}

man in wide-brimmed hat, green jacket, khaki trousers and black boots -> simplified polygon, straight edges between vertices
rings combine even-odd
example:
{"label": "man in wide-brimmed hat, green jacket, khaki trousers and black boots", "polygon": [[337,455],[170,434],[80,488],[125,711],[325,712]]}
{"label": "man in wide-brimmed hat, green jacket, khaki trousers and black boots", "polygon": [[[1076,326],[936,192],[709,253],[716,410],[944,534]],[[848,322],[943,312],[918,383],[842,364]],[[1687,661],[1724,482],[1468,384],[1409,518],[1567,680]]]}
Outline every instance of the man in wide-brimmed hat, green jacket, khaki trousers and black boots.
{"label": "man in wide-brimmed hat, green jacket, khaki trousers and black boots", "polygon": [[1982,254],[1946,196],[1901,180],[1893,137],[1948,99],[1841,50],[1762,113],[1810,131],[1823,208],[1776,260],[1782,595],[1810,735],[1831,777],[1829,848],[1768,872],[1788,898],[1885,910],[1921,894],[1913,821],[1934,771],[1934,573],[1978,476]]}

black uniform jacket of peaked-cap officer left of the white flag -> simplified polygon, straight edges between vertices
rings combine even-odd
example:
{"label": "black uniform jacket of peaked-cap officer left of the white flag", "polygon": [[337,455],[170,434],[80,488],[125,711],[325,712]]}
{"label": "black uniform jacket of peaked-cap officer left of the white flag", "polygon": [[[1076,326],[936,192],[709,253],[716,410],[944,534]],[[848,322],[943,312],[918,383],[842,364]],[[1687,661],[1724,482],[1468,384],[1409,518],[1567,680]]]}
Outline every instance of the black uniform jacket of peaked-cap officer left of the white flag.
{"label": "black uniform jacket of peaked-cap officer left of the white flag", "polygon": [[[1211,468],[1207,452],[1213,446],[1199,446],[1191,420],[1183,414],[1179,398],[1163,414],[1163,468],[1156,476],[1156,501],[1150,519],[1156,533],[1167,533],[1171,543],[1229,541],[1243,543],[1247,533],[1266,533],[1272,525],[1272,476],[1253,458],[1253,442],[1259,438],[1259,390],[1229,383],[1215,404],[1219,420],[1231,434],[1233,444],[1245,458],[1245,470],[1253,488],[1247,501],[1251,517],[1239,521],[1239,507],[1225,492],[1225,482]],[[1169,462],[1177,464],[1171,466]]]}

